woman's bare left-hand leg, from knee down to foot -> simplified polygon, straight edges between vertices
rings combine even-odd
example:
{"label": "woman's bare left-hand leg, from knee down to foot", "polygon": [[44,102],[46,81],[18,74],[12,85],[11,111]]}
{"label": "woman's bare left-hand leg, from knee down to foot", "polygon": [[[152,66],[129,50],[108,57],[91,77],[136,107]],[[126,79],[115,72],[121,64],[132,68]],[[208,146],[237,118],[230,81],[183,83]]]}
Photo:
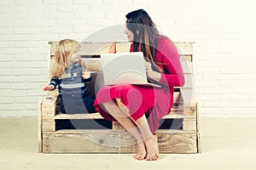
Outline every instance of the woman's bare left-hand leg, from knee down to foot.
{"label": "woman's bare left-hand leg, from knee down to foot", "polygon": [[119,108],[113,101],[103,103],[104,108],[108,113],[113,116],[117,122],[119,122],[128,133],[130,133],[137,140],[137,155],[133,156],[137,160],[143,160],[146,156],[146,149],[143,143],[143,137],[141,132],[137,128],[136,124],[131,120],[130,116],[127,116],[126,113]]}

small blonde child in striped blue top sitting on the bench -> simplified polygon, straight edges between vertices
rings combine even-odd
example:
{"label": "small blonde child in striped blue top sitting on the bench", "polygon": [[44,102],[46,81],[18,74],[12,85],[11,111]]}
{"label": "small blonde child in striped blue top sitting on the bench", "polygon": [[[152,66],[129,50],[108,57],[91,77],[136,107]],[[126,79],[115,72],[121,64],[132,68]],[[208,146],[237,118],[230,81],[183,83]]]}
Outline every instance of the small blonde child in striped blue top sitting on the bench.
{"label": "small blonde child in striped blue top sitting on the bench", "polygon": [[55,90],[58,86],[61,98],[61,112],[67,114],[94,113],[95,99],[90,96],[86,82],[91,81],[90,71],[81,60],[79,42],[64,39],[58,43],[52,78],[44,91]]}

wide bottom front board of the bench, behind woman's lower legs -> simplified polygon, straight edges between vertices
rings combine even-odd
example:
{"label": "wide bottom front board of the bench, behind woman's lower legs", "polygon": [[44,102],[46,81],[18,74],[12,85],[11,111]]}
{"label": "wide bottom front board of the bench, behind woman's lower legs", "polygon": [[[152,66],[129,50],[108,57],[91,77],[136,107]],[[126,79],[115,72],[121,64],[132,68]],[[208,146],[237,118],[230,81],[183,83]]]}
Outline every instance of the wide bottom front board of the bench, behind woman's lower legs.
{"label": "wide bottom front board of the bench, behind woman's lower legs", "polygon": [[[158,136],[160,153],[196,153],[193,133]],[[44,153],[135,153],[136,140],[129,133],[44,134]],[[65,142],[64,142],[65,141]]]}

